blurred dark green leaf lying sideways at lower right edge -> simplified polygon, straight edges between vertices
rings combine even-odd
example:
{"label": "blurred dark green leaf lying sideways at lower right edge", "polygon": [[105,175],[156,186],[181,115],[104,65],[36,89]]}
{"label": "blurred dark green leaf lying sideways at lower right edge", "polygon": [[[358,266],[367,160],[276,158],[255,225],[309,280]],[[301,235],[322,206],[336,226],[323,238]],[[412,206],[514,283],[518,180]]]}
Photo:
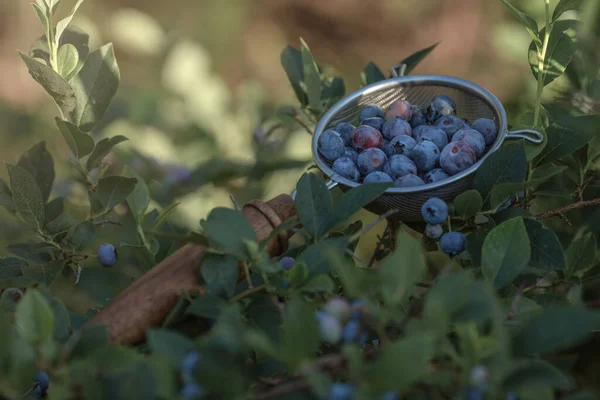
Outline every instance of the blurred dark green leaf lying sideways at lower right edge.
{"label": "blurred dark green leaf lying sideways at lower right edge", "polygon": [[592,334],[597,316],[584,305],[545,309],[513,336],[517,355],[549,354],[571,347]]}

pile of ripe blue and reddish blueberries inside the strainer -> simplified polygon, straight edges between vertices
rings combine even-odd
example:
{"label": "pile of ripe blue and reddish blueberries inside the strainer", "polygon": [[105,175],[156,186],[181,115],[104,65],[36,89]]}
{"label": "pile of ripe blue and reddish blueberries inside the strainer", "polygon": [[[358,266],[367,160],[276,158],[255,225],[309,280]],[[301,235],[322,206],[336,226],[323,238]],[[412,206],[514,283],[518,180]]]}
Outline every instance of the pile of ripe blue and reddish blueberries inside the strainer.
{"label": "pile of ripe blue and reddish blueberries inside the strainer", "polygon": [[319,137],[321,156],[354,182],[395,182],[411,187],[439,182],[466,170],[494,143],[491,119],[456,116],[456,102],[437,96],[427,108],[394,101],[387,110],[363,107],[359,125],[340,122]]}

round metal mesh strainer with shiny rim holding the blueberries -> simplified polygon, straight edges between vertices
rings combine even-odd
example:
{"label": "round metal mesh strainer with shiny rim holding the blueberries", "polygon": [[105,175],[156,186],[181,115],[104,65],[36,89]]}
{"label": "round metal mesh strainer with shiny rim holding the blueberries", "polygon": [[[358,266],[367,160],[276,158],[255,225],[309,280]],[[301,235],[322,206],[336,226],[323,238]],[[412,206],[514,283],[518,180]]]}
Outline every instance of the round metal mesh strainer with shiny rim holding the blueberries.
{"label": "round metal mesh strainer with shiny rim holding the blueberries", "polygon": [[[333,189],[339,186],[343,191],[357,187],[353,182],[336,174],[331,163],[319,154],[317,144],[319,136],[327,129],[333,129],[340,122],[356,123],[358,113],[366,104],[378,104],[387,108],[395,100],[407,100],[411,104],[427,106],[435,96],[447,95],[456,101],[457,116],[473,121],[477,118],[489,118],[496,122],[498,137],[487,153],[469,169],[451,176],[441,182],[410,188],[391,188],[365,208],[375,214],[397,209],[394,219],[405,222],[422,221],[421,206],[430,197],[439,197],[447,202],[472,187],[475,171],[494,151],[498,150],[505,139],[525,139],[532,143],[542,143],[541,133],[524,129],[508,131],[506,112],[500,101],[488,90],[466,80],[442,75],[402,76],[405,66],[392,68],[393,77],[355,91],[337,102],[321,118],[313,135],[313,158],[321,171],[329,177],[327,186]],[[400,73],[397,71],[400,70]],[[527,136],[529,133],[532,136]]]}

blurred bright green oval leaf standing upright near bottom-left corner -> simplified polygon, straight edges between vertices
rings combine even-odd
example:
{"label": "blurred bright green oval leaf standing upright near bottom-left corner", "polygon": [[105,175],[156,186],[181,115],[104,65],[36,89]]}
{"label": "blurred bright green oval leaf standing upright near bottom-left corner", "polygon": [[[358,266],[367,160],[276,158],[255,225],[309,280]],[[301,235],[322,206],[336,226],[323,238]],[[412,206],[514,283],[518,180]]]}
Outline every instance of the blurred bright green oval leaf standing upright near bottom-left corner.
{"label": "blurred bright green oval leaf standing upright near bottom-left corner", "polygon": [[15,324],[30,343],[48,339],[54,330],[54,314],[50,304],[37,290],[28,290],[17,304]]}

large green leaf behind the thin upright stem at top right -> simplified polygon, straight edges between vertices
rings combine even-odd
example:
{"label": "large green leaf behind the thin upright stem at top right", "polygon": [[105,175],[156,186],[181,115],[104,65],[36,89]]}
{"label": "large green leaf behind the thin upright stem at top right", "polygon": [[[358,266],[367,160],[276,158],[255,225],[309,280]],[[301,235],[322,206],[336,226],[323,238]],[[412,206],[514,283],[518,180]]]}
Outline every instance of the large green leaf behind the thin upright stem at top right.
{"label": "large green leaf behind the thin upright stem at top right", "polygon": [[[573,55],[577,50],[574,42],[575,29],[578,21],[562,20],[557,21],[552,26],[550,31],[550,39],[548,40],[548,48],[546,57],[544,58],[543,80],[544,86],[548,85],[556,78],[561,76],[567,66],[571,63]],[[544,37],[546,28],[544,27],[539,36]],[[529,45],[529,66],[535,79],[538,79],[539,61],[538,61],[538,45],[531,42]]]}

